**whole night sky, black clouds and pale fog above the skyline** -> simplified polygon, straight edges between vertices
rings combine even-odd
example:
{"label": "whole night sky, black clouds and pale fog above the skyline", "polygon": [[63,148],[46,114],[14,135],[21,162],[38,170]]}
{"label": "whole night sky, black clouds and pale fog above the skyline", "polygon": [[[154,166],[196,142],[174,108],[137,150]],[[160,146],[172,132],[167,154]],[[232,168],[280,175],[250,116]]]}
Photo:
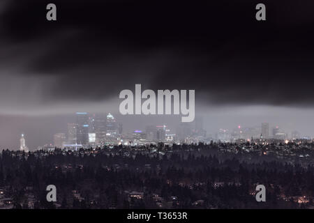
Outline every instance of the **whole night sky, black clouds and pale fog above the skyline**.
{"label": "whole night sky, black clouds and pale fog above the skyline", "polygon": [[[204,128],[260,126],[314,137],[313,1],[0,1],[0,148],[33,149],[75,112],[111,112],[124,132],[181,116],[121,116],[124,89],[195,89]],[[193,125],[193,124],[192,124]]]}

